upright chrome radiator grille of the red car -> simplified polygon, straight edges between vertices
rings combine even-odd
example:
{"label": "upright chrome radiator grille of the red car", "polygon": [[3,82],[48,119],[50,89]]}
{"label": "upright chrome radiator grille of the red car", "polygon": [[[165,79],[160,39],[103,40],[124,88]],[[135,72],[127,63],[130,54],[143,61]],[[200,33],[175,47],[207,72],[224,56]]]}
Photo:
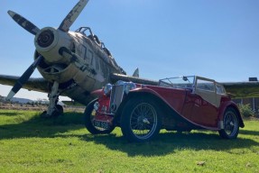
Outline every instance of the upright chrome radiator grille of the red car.
{"label": "upright chrome radiator grille of the red car", "polygon": [[112,88],[110,99],[110,111],[116,113],[118,106],[121,104],[124,96],[124,85],[114,86]]}

